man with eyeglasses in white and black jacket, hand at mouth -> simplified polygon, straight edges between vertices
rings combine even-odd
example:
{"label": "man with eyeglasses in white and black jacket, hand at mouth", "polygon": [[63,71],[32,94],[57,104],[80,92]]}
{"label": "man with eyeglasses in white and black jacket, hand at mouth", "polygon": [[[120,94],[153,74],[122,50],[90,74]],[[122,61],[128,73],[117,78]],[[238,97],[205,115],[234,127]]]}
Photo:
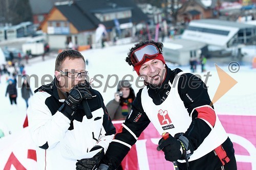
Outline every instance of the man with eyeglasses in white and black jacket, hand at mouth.
{"label": "man with eyeglasses in white and black jacket, hand at mouth", "polygon": [[102,96],[86,81],[78,51],[59,53],[54,75],[28,108],[38,169],[96,169],[116,133]]}

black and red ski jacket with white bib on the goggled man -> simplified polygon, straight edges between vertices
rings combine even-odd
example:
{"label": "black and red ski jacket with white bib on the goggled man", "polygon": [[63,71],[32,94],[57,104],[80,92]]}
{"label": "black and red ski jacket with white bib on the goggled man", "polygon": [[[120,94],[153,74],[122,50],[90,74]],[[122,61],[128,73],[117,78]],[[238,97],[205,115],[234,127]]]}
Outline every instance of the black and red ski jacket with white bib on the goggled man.
{"label": "black and red ski jacket with white bib on the goggled man", "polygon": [[[115,135],[103,162],[114,169],[137,141],[142,131],[153,123],[159,137],[163,132],[184,133],[193,147],[190,169],[204,169],[200,164],[214,161],[221,167],[234,155],[233,144],[222,127],[204,82],[193,74],[166,66],[166,78],[157,86],[140,89],[120,130]],[[160,113],[162,112],[162,113]],[[163,112],[168,112],[163,117]],[[157,152],[157,151],[156,151]],[[206,162],[208,161],[208,162]],[[182,166],[184,160],[178,160]],[[182,169],[182,168],[181,168]],[[207,168],[206,168],[207,169]],[[211,168],[208,168],[211,169]]]}

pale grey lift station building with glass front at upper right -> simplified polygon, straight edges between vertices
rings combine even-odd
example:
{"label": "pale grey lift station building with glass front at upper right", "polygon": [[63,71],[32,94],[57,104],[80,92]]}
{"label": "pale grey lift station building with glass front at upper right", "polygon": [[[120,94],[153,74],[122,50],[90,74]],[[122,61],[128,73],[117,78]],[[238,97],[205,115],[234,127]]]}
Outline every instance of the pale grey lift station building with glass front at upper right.
{"label": "pale grey lift station building with glass front at upper right", "polygon": [[253,44],[255,40],[254,25],[219,19],[192,20],[181,39],[164,43],[163,54],[166,61],[186,65],[190,58],[201,55],[227,57],[227,48]]}

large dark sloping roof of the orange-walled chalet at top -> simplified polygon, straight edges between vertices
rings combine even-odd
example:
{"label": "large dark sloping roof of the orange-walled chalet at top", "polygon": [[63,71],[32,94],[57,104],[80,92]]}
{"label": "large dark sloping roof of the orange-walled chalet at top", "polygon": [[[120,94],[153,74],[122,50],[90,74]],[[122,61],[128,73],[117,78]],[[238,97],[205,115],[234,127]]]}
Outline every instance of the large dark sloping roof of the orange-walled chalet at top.
{"label": "large dark sloping roof of the orange-walled chalet at top", "polygon": [[131,0],[77,0],[73,4],[55,6],[78,31],[96,29],[102,23],[107,29],[115,27],[113,20],[101,22],[94,14],[117,11],[132,11],[132,18],[118,19],[119,23],[146,21],[148,17]]}

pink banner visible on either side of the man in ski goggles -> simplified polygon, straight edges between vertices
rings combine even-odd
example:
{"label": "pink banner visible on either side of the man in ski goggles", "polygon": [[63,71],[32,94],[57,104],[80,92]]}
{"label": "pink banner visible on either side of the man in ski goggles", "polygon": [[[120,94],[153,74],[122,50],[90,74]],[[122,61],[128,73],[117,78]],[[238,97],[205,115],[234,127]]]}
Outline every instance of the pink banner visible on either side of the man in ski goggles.
{"label": "pink banner visible on either side of the man in ski goggles", "polygon": [[[238,169],[256,169],[256,116],[219,115],[219,118],[234,144]],[[114,125],[120,127],[120,124]],[[163,152],[156,150],[159,139],[159,133],[150,124],[123,160],[123,168],[174,169],[173,164],[164,159]]]}

